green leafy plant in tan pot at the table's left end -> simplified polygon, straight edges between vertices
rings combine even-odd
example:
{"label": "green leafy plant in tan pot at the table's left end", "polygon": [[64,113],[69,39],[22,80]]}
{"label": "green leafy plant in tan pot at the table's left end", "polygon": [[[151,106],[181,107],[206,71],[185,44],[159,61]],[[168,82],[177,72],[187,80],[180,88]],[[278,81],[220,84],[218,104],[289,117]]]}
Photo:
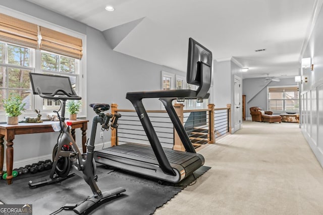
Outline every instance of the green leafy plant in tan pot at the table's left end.
{"label": "green leafy plant in tan pot at the table's left end", "polygon": [[19,95],[11,94],[8,99],[3,100],[4,109],[7,115],[7,124],[18,124],[18,116],[25,110],[26,103],[22,102],[22,98]]}

